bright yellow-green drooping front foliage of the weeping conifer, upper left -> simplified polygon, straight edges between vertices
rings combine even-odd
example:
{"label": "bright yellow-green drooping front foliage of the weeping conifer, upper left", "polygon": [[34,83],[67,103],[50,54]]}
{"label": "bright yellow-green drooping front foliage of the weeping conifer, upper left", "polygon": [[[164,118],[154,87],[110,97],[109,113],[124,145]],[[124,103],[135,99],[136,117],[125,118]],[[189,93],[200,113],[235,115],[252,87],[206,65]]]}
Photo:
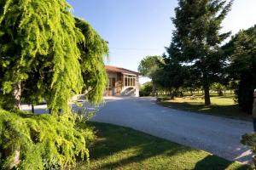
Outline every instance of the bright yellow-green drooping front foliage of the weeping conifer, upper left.
{"label": "bright yellow-green drooping front foliage of the weeping conifer, upper left", "polygon": [[2,94],[12,94],[13,84],[29,80],[53,113],[67,111],[67,100],[83,86],[77,47],[83,35],[70,10],[65,0],[1,1]]}

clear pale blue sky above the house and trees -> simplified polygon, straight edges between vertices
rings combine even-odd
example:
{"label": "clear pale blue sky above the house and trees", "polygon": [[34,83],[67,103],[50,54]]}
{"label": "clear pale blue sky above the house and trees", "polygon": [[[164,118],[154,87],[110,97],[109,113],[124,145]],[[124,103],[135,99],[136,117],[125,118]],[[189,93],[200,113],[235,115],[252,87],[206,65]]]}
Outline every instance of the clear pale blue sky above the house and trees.
{"label": "clear pale blue sky above the house and trees", "polygon": [[[148,55],[166,52],[175,29],[177,0],[67,0],[73,14],[87,20],[109,42],[109,60],[114,65],[137,71]],[[256,0],[235,0],[222,31],[236,34],[256,24]],[[141,79],[146,82],[148,79]]]}

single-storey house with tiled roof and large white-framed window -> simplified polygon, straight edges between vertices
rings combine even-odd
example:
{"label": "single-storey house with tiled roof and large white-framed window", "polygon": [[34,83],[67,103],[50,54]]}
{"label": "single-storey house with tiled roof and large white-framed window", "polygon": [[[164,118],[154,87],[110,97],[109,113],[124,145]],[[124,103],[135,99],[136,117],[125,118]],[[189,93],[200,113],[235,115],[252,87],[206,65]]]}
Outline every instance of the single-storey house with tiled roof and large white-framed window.
{"label": "single-storey house with tiled roof and large white-framed window", "polygon": [[105,65],[108,88],[105,96],[139,96],[139,73],[116,66]]}

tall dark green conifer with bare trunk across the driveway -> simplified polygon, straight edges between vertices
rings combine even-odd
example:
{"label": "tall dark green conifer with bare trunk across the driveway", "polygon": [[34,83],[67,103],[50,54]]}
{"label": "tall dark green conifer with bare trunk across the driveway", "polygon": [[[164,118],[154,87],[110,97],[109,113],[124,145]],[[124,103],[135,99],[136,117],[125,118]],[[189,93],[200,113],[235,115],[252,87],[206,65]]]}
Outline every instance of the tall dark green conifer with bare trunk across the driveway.
{"label": "tall dark green conifer with bare trunk across the driveway", "polygon": [[225,59],[220,44],[230,32],[220,33],[221,23],[233,1],[179,0],[172,19],[176,30],[167,52],[180,64],[189,66],[195,82],[201,82],[205,105],[211,105],[209,86],[222,75]]}

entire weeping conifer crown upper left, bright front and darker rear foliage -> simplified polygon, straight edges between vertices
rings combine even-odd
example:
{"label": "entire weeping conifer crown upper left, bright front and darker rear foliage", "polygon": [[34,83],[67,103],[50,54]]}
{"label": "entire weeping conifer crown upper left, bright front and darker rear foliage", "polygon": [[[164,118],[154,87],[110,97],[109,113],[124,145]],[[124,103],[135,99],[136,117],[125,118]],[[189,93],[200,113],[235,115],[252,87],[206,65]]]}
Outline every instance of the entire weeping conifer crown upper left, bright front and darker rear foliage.
{"label": "entire weeping conifer crown upper left, bright front and darker rear foliage", "polygon": [[[89,98],[94,102],[100,100],[106,84],[102,54],[108,54],[108,47],[87,23],[78,22],[65,0],[0,2],[3,107],[11,108],[20,103],[23,91],[30,96],[28,99],[46,99],[54,115],[59,109],[68,112],[68,100],[82,91],[84,82],[87,91],[96,89],[95,96],[90,93]],[[90,77],[85,80],[86,71],[90,72]]]}

